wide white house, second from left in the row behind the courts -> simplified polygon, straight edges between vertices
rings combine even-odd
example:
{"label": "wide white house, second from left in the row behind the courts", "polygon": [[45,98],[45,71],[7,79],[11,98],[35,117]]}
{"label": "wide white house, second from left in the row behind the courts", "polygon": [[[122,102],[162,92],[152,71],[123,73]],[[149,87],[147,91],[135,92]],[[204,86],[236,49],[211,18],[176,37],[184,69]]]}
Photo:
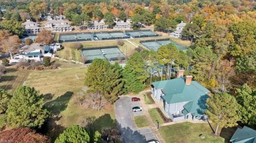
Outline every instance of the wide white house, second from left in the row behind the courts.
{"label": "wide white house, second from left in the row behind the courts", "polygon": [[53,32],[66,32],[73,30],[71,25],[64,20],[50,20],[45,24],[45,28],[50,29]]}

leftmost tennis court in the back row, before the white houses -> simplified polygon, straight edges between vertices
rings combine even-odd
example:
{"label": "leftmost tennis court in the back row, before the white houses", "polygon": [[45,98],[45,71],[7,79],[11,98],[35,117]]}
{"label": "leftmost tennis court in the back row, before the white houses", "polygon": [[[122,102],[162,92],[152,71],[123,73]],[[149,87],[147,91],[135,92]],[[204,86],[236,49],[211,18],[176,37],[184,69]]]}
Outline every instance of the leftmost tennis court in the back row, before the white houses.
{"label": "leftmost tennis court in the back row, before the white houses", "polygon": [[76,42],[93,40],[91,33],[62,33],[60,34],[59,42]]}

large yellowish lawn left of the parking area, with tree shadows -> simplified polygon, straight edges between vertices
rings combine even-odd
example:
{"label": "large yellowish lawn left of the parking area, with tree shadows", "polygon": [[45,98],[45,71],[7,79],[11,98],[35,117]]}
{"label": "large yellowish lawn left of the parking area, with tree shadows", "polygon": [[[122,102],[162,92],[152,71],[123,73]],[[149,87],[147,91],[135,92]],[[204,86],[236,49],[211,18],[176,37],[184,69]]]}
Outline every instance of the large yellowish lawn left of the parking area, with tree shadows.
{"label": "large yellowish lawn left of the parking area, with tree shadows", "polygon": [[[26,79],[28,86],[35,87],[45,97],[45,106],[51,112],[51,118],[42,127],[42,132],[53,140],[70,125],[79,124],[88,117],[95,116],[95,129],[116,127],[114,106],[106,106],[95,111],[74,104],[74,97],[83,86],[87,67],[60,69],[55,71],[34,71]],[[79,79],[76,78],[77,75]]]}

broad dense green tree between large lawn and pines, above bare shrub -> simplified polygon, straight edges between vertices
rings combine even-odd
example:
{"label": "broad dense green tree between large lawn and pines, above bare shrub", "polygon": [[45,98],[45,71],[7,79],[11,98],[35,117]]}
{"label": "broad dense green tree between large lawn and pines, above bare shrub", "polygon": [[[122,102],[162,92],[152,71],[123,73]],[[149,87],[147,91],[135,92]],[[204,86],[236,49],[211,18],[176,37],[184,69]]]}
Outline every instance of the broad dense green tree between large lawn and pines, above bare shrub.
{"label": "broad dense green tree between large lawn and pines, above bare shrub", "polygon": [[89,91],[99,91],[108,101],[114,103],[123,87],[121,67],[116,63],[110,65],[106,59],[94,59],[85,76],[85,86]]}

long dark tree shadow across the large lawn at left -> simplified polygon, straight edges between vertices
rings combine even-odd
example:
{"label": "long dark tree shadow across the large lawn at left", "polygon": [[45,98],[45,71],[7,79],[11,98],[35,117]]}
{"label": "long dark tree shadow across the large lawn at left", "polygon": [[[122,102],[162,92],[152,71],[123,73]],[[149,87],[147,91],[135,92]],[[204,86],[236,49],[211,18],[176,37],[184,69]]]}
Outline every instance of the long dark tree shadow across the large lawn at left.
{"label": "long dark tree shadow across the large lawn at left", "polygon": [[[66,129],[62,125],[57,125],[56,121],[62,118],[62,116],[59,114],[60,112],[66,110],[68,107],[68,102],[70,101],[73,94],[73,92],[67,91],[64,95],[57,97],[53,101],[45,103],[45,108],[51,112],[51,116],[41,127],[40,132],[49,136],[51,138],[51,142],[54,142],[60,133],[63,133],[63,131]],[[53,98],[53,95],[51,94],[47,94],[46,96],[48,99]]]}

